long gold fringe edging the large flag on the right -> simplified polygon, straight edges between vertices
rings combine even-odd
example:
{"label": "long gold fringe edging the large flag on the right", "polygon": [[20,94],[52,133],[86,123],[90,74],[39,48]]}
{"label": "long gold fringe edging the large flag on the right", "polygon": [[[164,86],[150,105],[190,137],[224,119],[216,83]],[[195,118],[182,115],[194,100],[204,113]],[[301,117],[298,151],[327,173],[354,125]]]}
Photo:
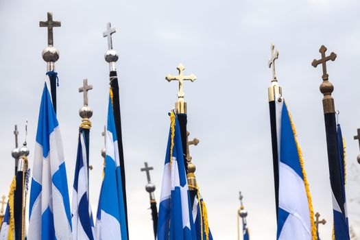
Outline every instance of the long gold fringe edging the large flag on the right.
{"label": "long gold fringe edging the large flag on the right", "polygon": [[[285,105],[286,105],[286,103],[285,103]],[[309,204],[310,221],[311,221],[311,235],[313,237],[313,240],[316,240],[317,234],[316,234],[316,226],[315,226],[315,222],[314,222],[314,211],[313,211],[313,204],[312,204],[312,200],[311,200],[311,194],[310,194],[310,190],[309,190],[309,182],[307,182],[307,173],[305,172],[305,169],[304,169],[304,160],[302,159],[302,152],[301,152],[301,149],[300,149],[300,146],[298,143],[298,138],[297,138],[298,135],[296,134],[296,128],[295,128],[295,125],[293,124],[293,119],[291,118],[290,112],[289,111],[287,111],[287,112],[289,114],[291,128],[293,129],[293,138],[295,139],[296,147],[298,148],[298,156],[299,156],[299,160],[300,160],[302,176],[304,178],[305,190],[307,191],[307,202]]]}

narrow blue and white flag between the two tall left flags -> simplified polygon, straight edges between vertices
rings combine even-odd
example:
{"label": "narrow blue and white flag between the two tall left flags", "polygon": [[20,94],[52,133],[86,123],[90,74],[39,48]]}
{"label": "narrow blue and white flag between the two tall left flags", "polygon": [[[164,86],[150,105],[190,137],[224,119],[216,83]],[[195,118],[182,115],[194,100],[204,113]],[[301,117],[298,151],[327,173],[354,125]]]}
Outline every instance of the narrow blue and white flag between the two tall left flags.
{"label": "narrow blue and white flag between the two tall left flags", "polygon": [[71,221],[74,239],[81,240],[94,239],[94,224],[91,208],[88,204],[88,143],[89,130],[80,128],[73,184]]}

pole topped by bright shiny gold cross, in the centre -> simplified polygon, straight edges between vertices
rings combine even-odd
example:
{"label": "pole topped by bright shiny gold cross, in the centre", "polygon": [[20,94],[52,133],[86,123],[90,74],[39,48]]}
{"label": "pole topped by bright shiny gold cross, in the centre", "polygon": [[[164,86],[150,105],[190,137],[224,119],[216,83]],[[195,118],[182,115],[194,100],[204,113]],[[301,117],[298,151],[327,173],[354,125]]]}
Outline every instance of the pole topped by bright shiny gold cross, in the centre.
{"label": "pole topped by bright shiny gold cross, in the centre", "polygon": [[184,75],[185,67],[181,63],[176,69],[178,69],[179,75],[168,74],[165,77],[165,80],[167,80],[167,82],[179,82],[178,101],[176,101],[175,109],[180,126],[182,153],[184,154],[185,170],[188,172],[187,160],[185,159],[187,157],[187,103],[186,101],[184,101],[184,81],[194,82],[196,80],[196,76],[193,73],[191,73],[191,75]]}

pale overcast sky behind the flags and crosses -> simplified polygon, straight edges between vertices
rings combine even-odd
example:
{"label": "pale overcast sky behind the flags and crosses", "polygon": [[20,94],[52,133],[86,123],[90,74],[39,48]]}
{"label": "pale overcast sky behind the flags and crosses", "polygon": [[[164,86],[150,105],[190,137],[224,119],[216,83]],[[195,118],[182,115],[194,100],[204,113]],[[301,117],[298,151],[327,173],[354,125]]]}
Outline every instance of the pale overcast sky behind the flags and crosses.
{"label": "pale overcast sky behind the flags and crosses", "polygon": [[[145,174],[147,160],[154,166],[152,179],[160,187],[169,119],[176,101],[177,84],[165,81],[182,62],[197,80],[186,83],[188,129],[200,144],[191,149],[197,181],[206,204],[215,239],[236,239],[238,191],[245,195],[252,239],[274,239],[276,215],[272,173],[267,87],[270,43],[280,50],[276,64],[289,110],[304,154],[313,206],[328,220],[321,227],[330,239],[331,191],[319,58],[324,44],[338,58],[328,64],[335,86],[335,106],[340,111],[347,142],[347,194],[350,225],[360,234],[359,168],[357,142],[360,127],[359,56],[360,2],[356,0],[304,1],[0,1],[0,194],[7,194],[14,160],[13,125],[29,119],[28,143],[34,139],[40,94],[45,79],[41,51],[46,30],[38,21],[52,11],[62,27],[54,29],[60,60],[56,69],[58,119],[64,139],[69,189],[72,190],[80,124],[84,78],[93,84],[91,130],[91,205],[96,211],[101,182],[101,137],[106,121],[108,64],[106,39],[101,34],[110,21],[117,27],[114,46],[119,53],[119,80],[123,145],[128,189],[130,237],[152,239],[152,222]],[[32,165],[32,163],[30,163]],[[156,190],[156,197],[160,189]],[[353,200],[356,199],[357,200]],[[358,202],[357,202],[358,201]]]}

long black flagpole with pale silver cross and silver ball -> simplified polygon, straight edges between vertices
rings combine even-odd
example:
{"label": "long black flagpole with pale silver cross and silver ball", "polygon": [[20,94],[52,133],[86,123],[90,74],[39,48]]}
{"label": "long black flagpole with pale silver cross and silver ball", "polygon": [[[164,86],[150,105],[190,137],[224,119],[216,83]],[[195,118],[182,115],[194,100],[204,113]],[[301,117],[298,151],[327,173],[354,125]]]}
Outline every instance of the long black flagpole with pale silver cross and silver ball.
{"label": "long black flagpole with pale silver cross and silver ball", "polygon": [[120,114],[120,99],[119,99],[119,82],[117,80],[117,68],[116,62],[119,60],[117,52],[112,49],[112,34],[116,32],[114,27],[111,27],[111,23],[107,24],[106,32],[103,33],[104,37],[108,38],[108,51],[105,53],[105,60],[109,64],[110,69],[110,88],[112,93],[112,108],[114,110],[115,118],[115,128],[117,132],[117,145],[119,147],[119,162],[120,162],[120,172],[121,172],[121,182],[123,190],[123,202],[125,208],[125,221],[126,221],[126,230],[129,237],[129,228],[128,228],[128,204],[126,200],[126,184],[125,184],[125,165],[123,158],[123,135],[121,131],[121,114]]}

